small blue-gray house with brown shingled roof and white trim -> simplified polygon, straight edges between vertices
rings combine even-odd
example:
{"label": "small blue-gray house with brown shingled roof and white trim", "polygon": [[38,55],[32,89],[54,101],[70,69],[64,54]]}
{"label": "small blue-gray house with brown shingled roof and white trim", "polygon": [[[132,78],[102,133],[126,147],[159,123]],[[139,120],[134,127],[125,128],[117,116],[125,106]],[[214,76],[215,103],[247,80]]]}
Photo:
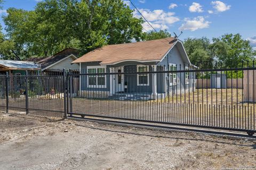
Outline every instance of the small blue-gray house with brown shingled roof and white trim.
{"label": "small blue-gray house with brown shingled roof and white trim", "polygon": [[[80,64],[81,73],[188,70],[195,67],[191,65],[182,41],[174,38],[108,45],[83,55],[73,63]],[[168,91],[179,94],[189,87],[192,90],[193,77],[195,79],[193,73],[110,74],[97,78],[86,75],[81,76],[79,95],[98,93],[109,97],[127,92],[141,93],[143,98],[145,95],[147,98],[165,97]]]}

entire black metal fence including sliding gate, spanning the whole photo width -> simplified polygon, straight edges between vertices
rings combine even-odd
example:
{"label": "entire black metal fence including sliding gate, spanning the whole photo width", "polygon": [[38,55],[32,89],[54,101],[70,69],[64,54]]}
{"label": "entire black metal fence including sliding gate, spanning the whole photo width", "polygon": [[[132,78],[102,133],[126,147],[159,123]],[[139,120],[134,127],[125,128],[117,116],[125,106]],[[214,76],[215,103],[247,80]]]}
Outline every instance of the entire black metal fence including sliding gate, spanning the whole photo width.
{"label": "entire black metal fence including sliding gate, spanning the whole photo width", "polygon": [[[255,132],[255,67],[88,67],[81,73],[0,76],[0,110]],[[210,79],[207,88],[198,80]],[[231,79],[231,88],[227,86]],[[242,85],[238,79],[242,79]],[[232,82],[236,82],[233,86]],[[206,81],[206,83],[209,83]],[[242,87],[242,88],[241,88]]]}

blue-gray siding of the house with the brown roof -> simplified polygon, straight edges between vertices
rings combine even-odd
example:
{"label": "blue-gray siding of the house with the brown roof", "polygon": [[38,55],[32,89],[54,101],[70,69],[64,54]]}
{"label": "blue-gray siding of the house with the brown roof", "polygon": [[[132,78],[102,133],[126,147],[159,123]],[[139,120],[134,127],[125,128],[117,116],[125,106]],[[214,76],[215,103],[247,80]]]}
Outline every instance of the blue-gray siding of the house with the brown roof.
{"label": "blue-gray siding of the house with the brown roof", "polygon": [[[170,50],[169,54],[163,59],[162,62],[157,63],[157,71],[163,71],[164,66],[167,70],[169,63],[171,64],[177,64],[177,70],[184,70],[185,69],[185,63],[182,60],[181,53],[179,52],[179,49],[174,46],[172,50]],[[143,65],[155,65],[156,63],[143,63]],[[90,62],[90,63],[82,63],[81,69],[82,73],[87,72],[87,66],[97,66],[99,65],[99,62]],[[118,66],[124,66],[124,72],[137,72],[137,65],[141,65],[141,63],[138,62],[124,62],[119,63],[117,65],[110,65],[107,66],[107,73],[109,73],[109,69],[111,67],[118,67]],[[149,71],[153,71],[153,68],[149,66]],[[195,75],[194,75],[195,76]],[[81,77],[81,90],[93,90],[93,91],[110,91],[110,76],[107,75],[107,87],[106,88],[88,88],[87,87],[87,76],[83,75]],[[193,74],[190,73],[190,88],[193,86]],[[184,92],[184,89],[188,89],[189,85],[185,84],[185,73],[177,73],[177,79],[179,79],[179,83],[176,86],[169,86],[169,75],[166,73],[157,73],[157,93],[165,93],[165,89],[167,91],[174,90],[174,93],[178,91],[178,93]],[[195,79],[195,77],[194,77]],[[166,80],[166,81],[165,81]],[[117,81],[116,79],[114,81]],[[166,82],[166,83],[164,83]],[[126,92],[131,93],[140,93],[143,94],[152,94],[154,91],[154,81],[153,81],[153,75],[149,74],[149,86],[137,86],[137,75],[136,74],[125,74],[124,75],[124,85],[127,86]],[[115,82],[113,82],[113,88],[115,86]],[[195,85],[194,85],[195,86]],[[185,87],[185,88],[184,88]],[[181,90],[180,90],[181,89]]]}

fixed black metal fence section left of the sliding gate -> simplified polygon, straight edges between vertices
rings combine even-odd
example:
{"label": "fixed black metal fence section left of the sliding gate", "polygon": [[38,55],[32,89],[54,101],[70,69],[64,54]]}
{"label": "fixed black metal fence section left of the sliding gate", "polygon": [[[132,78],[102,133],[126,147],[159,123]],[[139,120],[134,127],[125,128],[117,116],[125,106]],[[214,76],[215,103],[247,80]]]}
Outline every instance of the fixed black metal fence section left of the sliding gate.
{"label": "fixed black metal fence section left of the sliding gate", "polygon": [[66,74],[1,75],[0,109],[64,117]]}

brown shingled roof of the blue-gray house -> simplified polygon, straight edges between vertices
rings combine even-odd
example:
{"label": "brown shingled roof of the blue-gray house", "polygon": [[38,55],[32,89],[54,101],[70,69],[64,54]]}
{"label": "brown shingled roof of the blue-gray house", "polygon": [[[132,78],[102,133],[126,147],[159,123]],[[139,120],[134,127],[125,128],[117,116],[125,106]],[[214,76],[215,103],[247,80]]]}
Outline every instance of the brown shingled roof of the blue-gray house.
{"label": "brown shingled roof of the blue-gray house", "polygon": [[175,45],[174,38],[164,38],[138,43],[108,45],[89,52],[72,63],[101,62],[113,64],[126,60],[160,61]]}

